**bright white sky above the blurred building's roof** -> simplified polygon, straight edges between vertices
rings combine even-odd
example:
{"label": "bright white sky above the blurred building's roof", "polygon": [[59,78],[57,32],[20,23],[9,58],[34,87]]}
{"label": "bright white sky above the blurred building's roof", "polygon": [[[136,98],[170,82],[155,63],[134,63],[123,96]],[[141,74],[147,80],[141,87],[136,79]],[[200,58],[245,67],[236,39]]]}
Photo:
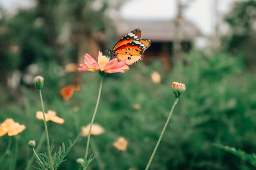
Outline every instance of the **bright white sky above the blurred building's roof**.
{"label": "bright white sky above the blurred building's roof", "polygon": [[[203,34],[209,35],[213,31],[215,22],[214,1],[192,0],[184,13],[184,18],[193,22]],[[223,14],[228,13],[231,4],[235,1],[238,0],[218,0],[220,15],[223,16]],[[124,4],[121,11],[124,18],[164,20],[175,17],[176,6],[175,0],[129,0]]]}

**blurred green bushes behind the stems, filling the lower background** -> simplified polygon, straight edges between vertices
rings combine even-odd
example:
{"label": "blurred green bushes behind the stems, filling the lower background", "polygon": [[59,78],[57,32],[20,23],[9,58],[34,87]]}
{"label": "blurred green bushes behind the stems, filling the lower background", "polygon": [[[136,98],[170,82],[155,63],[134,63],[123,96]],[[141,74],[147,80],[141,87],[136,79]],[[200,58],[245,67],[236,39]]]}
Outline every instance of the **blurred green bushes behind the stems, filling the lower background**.
{"label": "blurred green bushes behind the stems, filling the lower background", "polygon": [[[151,168],[252,169],[250,164],[212,146],[232,145],[248,153],[256,149],[256,79],[244,70],[242,60],[227,53],[191,52],[184,57],[186,66],[177,62],[171,73],[154,60],[148,66],[139,63],[127,73],[106,76],[95,119],[106,132],[92,136],[105,169],[145,168],[172,106],[172,81],[186,83],[187,90],[174,110]],[[80,127],[89,124],[100,76],[79,73],[81,91],[75,92],[70,101],[63,101],[59,90],[73,82],[74,73],[56,74],[55,67],[60,66],[41,64],[40,74],[45,78],[42,92],[46,110],[57,111],[65,119],[63,125],[49,122],[50,138],[58,146],[74,139]],[[150,79],[153,71],[161,74],[161,83]],[[22,103],[6,103],[0,110],[1,120],[12,117],[26,125],[20,134],[18,169],[23,169],[32,155],[26,143],[30,139],[38,141],[44,132],[42,120],[35,118],[40,110],[38,92],[35,88],[21,89]],[[140,104],[140,110],[135,110],[134,104]],[[129,140],[126,152],[112,146],[119,136]],[[8,139],[1,137],[1,153]],[[83,157],[85,145],[86,138],[77,141],[60,169],[77,169],[76,159]],[[6,159],[4,168],[10,161]],[[96,160],[90,168],[99,169]]]}

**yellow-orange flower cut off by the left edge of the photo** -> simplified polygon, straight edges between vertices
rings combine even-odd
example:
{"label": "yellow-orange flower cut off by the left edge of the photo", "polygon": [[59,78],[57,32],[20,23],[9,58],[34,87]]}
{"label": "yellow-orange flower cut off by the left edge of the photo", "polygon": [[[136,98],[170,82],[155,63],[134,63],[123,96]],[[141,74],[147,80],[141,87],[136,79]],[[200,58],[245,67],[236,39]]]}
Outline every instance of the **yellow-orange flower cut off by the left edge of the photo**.
{"label": "yellow-orange flower cut off by the left edge of the photo", "polygon": [[15,136],[24,131],[25,125],[20,125],[13,121],[12,118],[7,118],[2,124],[0,124],[0,136],[8,133],[8,136]]}

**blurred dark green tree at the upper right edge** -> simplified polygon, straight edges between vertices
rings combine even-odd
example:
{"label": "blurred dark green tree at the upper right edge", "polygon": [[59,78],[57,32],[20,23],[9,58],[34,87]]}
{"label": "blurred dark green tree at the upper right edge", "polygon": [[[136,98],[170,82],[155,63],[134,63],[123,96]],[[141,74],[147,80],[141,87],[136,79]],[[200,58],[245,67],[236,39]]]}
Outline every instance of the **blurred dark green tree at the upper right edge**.
{"label": "blurred dark green tree at the upper right edge", "polygon": [[227,41],[224,41],[227,50],[244,53],[246,65],[255,68],[256,1],[237,1],[225,21],[230,26],[230,34]]}

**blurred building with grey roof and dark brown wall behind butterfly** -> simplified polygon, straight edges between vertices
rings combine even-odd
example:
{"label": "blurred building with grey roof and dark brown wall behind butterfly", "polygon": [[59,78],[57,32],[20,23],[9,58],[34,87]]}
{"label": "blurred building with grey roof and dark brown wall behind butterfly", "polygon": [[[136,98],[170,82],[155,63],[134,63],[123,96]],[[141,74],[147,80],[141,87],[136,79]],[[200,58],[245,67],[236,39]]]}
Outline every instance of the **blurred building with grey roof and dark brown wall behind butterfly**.
{"label": "blurred building with grey roof and dark brown wall behind butterfly", "polygon": [[[120,23],[121,22],[121,23]],[[141,38],[150,39],[151,46],[144,54],[143,61],[149,62],[154,57],[163,60],[165,69],[170,69],[170,57],[173,55],[173,41],[179,41],[182,52],[191,50],[193,41],[202,36],[199,29],[188,20],[118,20],[115,23],[119,38],[134,29],[141,29]]]}

